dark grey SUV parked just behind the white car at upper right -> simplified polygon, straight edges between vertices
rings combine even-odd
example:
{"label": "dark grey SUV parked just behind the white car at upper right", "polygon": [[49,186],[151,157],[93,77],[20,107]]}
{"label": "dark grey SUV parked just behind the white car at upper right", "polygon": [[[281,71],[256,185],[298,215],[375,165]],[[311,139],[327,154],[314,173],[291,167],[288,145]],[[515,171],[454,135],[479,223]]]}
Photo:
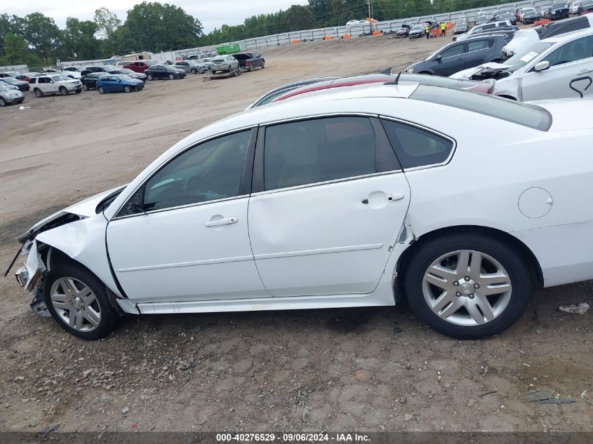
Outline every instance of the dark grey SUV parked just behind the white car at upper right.
{"label": "dark grey SUV parked just behind the white car at upper right", "polygon": [[407,67],[406,72],[450,76],[462,69],[500,61],[500,51],[506,44],[505,36],[502,35],[477,36],[454,41],[432,53],[426,60]]}

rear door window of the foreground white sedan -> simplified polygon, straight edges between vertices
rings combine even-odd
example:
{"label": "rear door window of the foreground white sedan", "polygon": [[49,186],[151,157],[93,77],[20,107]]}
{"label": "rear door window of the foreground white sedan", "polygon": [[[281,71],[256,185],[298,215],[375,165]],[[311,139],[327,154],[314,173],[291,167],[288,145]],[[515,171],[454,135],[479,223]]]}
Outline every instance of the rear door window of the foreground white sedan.
{"label": "rear door window of the foreground white sedan", "polygon": [[366,117],[331,117],[266,129],[266,190],[368,175],[378,172],[375,164],[375,131]]}

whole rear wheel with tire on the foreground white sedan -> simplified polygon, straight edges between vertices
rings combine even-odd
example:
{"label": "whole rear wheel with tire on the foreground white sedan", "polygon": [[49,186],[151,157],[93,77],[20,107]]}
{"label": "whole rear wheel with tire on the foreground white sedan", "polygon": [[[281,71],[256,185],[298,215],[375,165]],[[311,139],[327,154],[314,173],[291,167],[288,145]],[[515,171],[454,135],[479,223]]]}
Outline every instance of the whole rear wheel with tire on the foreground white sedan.
{"label": "whole rear wheel with tire on the foreground white sedan", "polygon": [[504,240],[468,231],[418,245],[404,270],[414,313],[457,339],[481,339],[524,313],[531,278],[524,257]]}

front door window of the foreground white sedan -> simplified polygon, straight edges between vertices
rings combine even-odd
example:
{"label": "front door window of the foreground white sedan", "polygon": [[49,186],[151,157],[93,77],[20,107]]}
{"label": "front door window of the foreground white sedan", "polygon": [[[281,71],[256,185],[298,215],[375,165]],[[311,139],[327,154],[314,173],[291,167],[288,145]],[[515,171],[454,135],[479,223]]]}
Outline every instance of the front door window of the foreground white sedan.
{"label": "front door window of the foreground white sedan", "polygon": [[251,130],[218,137],[175,157],[144,187],[142,208],[164,210],[239,196]]}

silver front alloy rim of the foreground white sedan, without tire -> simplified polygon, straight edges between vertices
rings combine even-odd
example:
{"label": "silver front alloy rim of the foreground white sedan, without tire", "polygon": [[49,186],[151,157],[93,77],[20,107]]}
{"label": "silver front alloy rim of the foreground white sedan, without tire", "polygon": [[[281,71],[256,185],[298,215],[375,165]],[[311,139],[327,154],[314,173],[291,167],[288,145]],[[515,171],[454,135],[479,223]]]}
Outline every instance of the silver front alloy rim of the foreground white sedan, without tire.
{"label": "silver front alloy rim of the foreground white sedan, without tire", "polygon": [[93,291],[75,278],[62,277],[51,286],[51,304],[70,328],[91,332],[101,322],[101,307]]}

